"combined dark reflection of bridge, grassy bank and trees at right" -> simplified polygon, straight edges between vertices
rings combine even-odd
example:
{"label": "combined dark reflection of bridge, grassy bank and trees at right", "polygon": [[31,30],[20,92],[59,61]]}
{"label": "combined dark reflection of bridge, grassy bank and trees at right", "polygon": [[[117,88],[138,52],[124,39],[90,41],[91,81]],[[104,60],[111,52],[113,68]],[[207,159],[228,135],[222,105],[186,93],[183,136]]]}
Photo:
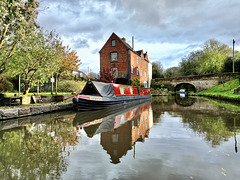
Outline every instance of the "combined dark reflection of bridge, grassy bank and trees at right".
{"label": "combined dark reflection of bridge, grassy bank and trees at right", "polygon": [[[161,122],[161,115],[165,112],[181,116],[186,128],[193,130],[212,147],[219,146],[240,132],[240,116],[218,101],[211,102],[190,97],[157,97],[152,102],[154,122]],[[237,152],[237,147],[235,150]]]}

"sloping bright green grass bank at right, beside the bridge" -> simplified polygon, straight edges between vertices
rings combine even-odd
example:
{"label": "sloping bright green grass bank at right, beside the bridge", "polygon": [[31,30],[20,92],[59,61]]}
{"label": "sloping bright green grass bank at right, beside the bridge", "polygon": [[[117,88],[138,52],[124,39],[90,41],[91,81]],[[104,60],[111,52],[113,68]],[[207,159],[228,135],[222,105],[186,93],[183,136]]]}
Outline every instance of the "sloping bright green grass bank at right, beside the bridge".
{"label": "sloping bright green grass bank at right, beside the bridge", "polygon": [[223,98],[229,98],[229,99],[240,99],[240,94],[234,94],[234,90],[238,86],[239,86],[239,79],[234,79],[224,84],[214,86],[208,90],[197,92],[194,95],[223,97]]}

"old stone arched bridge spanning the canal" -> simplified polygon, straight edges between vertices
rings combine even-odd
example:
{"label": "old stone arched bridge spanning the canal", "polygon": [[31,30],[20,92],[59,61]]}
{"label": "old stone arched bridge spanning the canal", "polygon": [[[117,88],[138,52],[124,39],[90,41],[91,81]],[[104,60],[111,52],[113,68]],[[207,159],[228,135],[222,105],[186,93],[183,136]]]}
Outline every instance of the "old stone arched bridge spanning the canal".
{"label": "old stone arched bridge spanning the canal", "polygon": [[182,84],[190,84],[194,87],[195,92],[199,92],[239,77],[240,73],[222,73],[174,78],[156,78],[154,81],[163,84],[170,83],[174,86],[175,91],[177,87],[181,86]]}

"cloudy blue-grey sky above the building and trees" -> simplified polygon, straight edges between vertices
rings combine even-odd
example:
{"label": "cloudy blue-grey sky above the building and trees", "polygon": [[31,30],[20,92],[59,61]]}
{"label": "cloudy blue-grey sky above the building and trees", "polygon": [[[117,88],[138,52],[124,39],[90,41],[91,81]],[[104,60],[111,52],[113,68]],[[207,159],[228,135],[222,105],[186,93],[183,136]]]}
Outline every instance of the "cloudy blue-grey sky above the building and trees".
{"label": "cloudy blue-grey sky above the building and trees", "polygon": [[99,51],[114,32],[163,68],[215,39],[240,47],[239,0],[39,0],[37,22],[77,51],[79,69],[99,73]]}

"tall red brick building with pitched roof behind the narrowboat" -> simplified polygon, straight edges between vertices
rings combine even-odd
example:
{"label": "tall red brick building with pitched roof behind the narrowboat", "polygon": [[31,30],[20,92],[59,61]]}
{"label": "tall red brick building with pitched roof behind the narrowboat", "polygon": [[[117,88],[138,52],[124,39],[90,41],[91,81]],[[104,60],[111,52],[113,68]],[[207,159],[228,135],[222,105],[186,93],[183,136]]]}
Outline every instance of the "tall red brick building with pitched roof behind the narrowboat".
{"label": "tall red brick building with pitched roof behind the narrowboat", "polygon": [[[132,41],[134,41],[132,39]],[[152,79],[152,64],[148,59],[147,52],[135,51],[125,38],[118,37],[115,33],[109,37],[100,53],[100,71],[105,69],[114,70],[116,78],[138,78],[145,87],[150,87]]]}

